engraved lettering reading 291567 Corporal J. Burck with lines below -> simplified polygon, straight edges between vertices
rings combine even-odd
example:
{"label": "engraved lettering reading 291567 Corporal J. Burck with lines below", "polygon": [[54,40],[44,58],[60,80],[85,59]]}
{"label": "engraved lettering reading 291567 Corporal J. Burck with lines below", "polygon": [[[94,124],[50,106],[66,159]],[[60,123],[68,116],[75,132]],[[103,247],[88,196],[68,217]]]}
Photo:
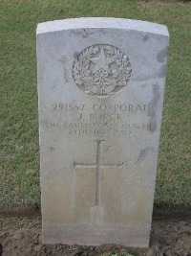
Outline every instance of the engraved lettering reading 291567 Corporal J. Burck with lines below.
{"label": "engraved lettering reading 291567 Corporal J. Burck with lines below", "polygon": [[[49,109],[53,113],[52,118],[40,122],[47,128],[62,129],[68,135],[131,136],[138,130],[150,130],[155,125],[149,120],[143,122],[142,116],[147,117],[148,112],[148,105],[143,102],[91,105],[54,102]],[[134,121],[135,115],[139,116],[137,122]]]}

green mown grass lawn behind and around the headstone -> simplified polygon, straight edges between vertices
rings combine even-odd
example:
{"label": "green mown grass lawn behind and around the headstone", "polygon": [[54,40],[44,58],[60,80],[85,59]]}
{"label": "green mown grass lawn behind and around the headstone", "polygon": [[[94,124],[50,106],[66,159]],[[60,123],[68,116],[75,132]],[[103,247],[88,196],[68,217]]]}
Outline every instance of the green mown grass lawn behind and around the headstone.
{"label": "green mown grass lawn behind and around the headstone", "polygon": [[115,16],[168,26],[171,41],[155,201],[191,205],[190,13],[190,3],[1,0],[1,205],[40,203],[36,25],[80,16]]}

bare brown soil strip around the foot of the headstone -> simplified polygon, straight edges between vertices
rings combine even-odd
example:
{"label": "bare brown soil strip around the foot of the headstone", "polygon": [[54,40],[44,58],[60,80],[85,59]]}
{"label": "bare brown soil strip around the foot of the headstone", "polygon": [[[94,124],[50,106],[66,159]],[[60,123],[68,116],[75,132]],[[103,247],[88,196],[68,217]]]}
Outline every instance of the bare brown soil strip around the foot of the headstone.
{"label": "bare brown soil strip around the foot of the headstone", "polygon": [[[170,217],[170,212],[172,217]],[[41,217],[0,217],[0,256],[109,256],[111,253],[135,256],[191,256],[191,216],[189,211],[154,211],[151,244],[147,249],[127,248],[115,244],[101,246],[42,245]],[[1,252],[3,247],[3,254]]]}

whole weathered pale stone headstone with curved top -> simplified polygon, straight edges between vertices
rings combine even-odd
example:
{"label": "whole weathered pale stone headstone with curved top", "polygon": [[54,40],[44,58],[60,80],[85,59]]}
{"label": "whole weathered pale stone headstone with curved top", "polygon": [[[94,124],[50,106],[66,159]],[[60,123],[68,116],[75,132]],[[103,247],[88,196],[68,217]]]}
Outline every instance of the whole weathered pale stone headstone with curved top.
{"label": "whole weathered pale stone headstone with curved top", "polygon": [[168,44],[149,22],[38,25],[45,244],[149,244]]}

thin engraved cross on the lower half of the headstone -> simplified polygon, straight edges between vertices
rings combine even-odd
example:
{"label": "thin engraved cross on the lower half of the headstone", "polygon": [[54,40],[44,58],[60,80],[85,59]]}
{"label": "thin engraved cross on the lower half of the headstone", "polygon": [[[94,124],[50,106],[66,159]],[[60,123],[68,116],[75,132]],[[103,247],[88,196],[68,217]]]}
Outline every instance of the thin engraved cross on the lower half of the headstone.
{"label": "thin engraved cross on the lower half of the headstone", "polygon": [[95,206],[99,206],[99,183],[100,183],[100,171],[101,168],[123,168],[124,163],[119,164],[101,164],[101,153],[102,148],[101,144],[104,140],[96,140],[96,164],[90,163],[75,163],[74,162],[74,169],[77,167],[84,167],[84,168],[96,168],[96,193],[95,193]]}

